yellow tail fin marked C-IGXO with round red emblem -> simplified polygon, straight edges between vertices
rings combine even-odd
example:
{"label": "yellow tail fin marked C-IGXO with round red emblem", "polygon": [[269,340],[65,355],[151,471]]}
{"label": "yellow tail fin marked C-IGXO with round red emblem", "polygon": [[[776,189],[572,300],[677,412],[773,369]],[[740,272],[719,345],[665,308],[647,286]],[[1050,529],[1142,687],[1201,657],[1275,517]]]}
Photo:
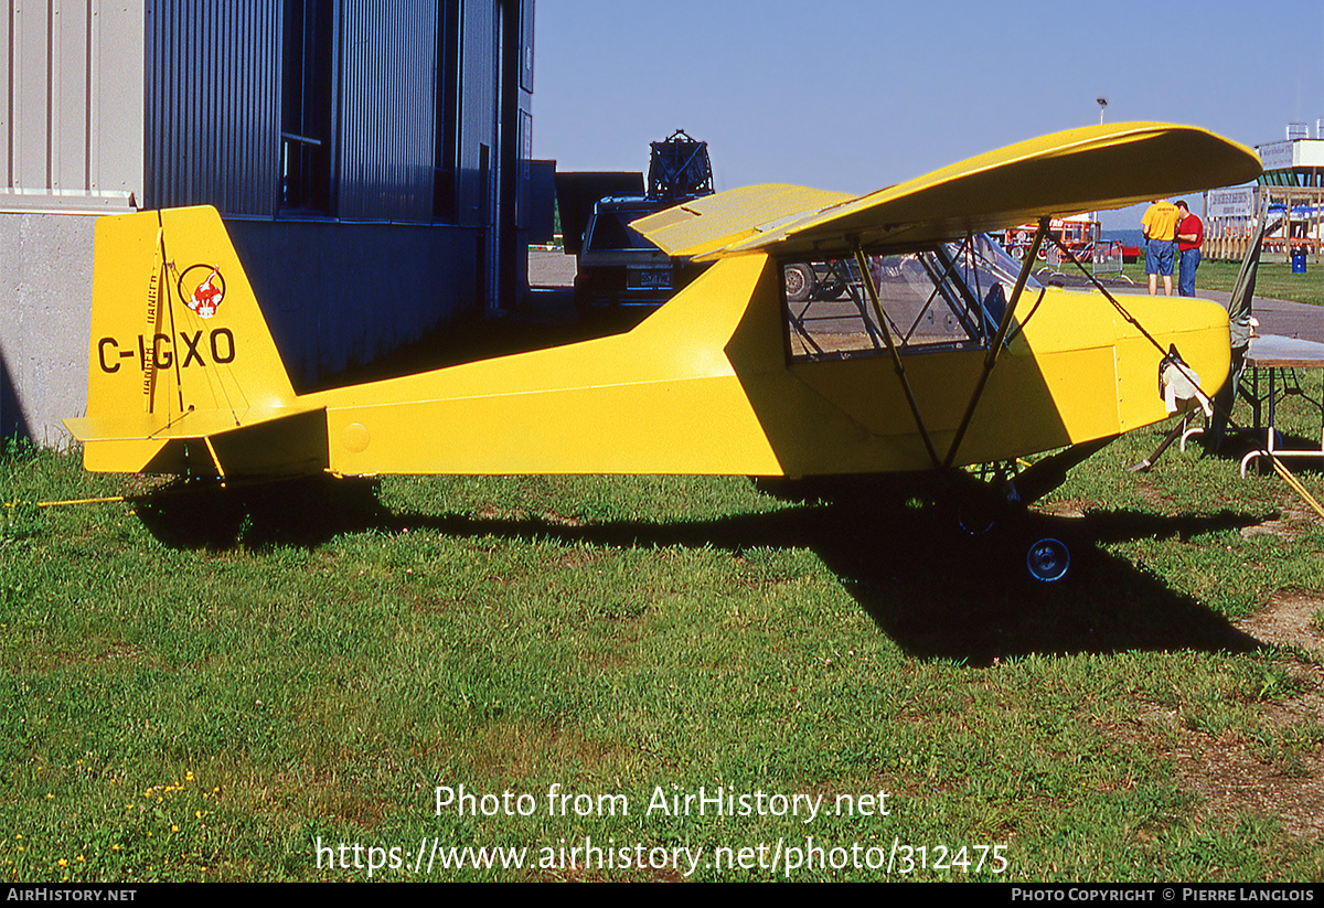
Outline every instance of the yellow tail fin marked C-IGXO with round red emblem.
{"label": "yellow tail fin marked C-IGXO with round red emblem", "polygon": [[171,439],[297,412],[213,208],[97,221],[87,365],[87,416],[65,424],[94,470],[143,470]]}

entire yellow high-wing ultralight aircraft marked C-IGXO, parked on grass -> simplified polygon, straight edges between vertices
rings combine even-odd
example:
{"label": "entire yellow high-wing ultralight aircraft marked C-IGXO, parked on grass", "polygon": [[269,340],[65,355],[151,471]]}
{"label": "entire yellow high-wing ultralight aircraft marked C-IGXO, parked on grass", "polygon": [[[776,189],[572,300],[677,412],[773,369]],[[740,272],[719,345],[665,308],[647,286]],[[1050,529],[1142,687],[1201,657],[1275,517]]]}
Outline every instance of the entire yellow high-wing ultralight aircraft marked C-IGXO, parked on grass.
{"label": "entire yellow high-wing ultralight aircraft marked C-IGXO, parked on grass", "polygon": [[[859,197],[722,192],[633,224],[669,254],[714,265],[628,334],[305,394],[213,209],[105,217],[87,416],[65,424],[89,470],[220,484],[319,473],[797,478],[1066,447],[1043,470],[1059,475],[1168,417],[1165,369],[1211,397],[1229,368],[1227,315],[1200,299],[1121,307],[1041,287],[1034,254],[1013,262],[982,234],[1038,221],[1038,246],[1049,218],[1259,172],[1253,151],[1204,130],[1129,123]],[[1035,483],[1017,482],[1008,494],[1034,496]],[[1055,578],[1067,557],[1037,544],[1031,573]]]}

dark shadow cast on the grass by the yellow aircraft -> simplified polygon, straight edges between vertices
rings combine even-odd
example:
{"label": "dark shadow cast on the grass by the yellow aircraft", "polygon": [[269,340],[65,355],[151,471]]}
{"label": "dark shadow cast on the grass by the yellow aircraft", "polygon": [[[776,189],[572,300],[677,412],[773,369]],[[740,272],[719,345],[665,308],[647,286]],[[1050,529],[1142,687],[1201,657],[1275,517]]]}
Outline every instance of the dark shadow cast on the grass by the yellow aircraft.
{"label": "dark shadow cast on the grass by the yellow aircraft", "polygon": [[[199,522],[187,502],[146,503],[138,512],[166,544],[195,547],[234,545],[238,539],[248,547],[314,547],[343,532],[429,528],[457,537],[622,549],[715,547],[740,555],[761,547],[806,548],[906,653],[969,664],[1035,653],[1245,653],[1260,646],[1221,614],[1099,545],[1190,539],[1256,524],[1259,518],[1233,511],[1170,518],[1127,510],[1084,518],[1031,512],[972,537],[949,508],[916,498],[912,490],[895,478],[854,478],[764,514],[567,525],[539,518],[391,512],[379,503],[375,483],[312,479],[257,487],[246,500],[230,496],[236,512],[207,522]],[[222,532],[201,539],[200,527]],[[1071,548],[1071,570],[1063,581],[1041,584],[1026,570],[1026,541],[1042,536]]]}

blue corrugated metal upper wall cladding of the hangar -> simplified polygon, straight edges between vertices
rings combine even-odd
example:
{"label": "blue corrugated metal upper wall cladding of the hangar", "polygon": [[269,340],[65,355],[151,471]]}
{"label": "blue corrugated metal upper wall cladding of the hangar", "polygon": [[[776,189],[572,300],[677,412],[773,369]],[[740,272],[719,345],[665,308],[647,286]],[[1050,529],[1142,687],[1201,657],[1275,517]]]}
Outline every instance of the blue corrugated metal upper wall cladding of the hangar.
{"label": "blue corrugated metal upper wall cladding of the hangar", "polygon": [[[282,5],[146,0],[146,206],[310,213],[282,212]],[[496,226],[499,172],[510,163],[502,136],[515,144],[519,127],[526,138],[528,131],[515,118],[504,130],[499,123],[500,23],[503,13],[527,16],[528,7],[519,0],[339,0],[334,9],[334,193],[311,214],[426,224],[444,197],[453,199],[453,206],[442,205],[446,220]],[[441,68],[440,86],[438,32],[458,33],[455,70]],[[527,60],[528,48],[520,50],[507,53]],[[520,68],[514,73],[522,82]],[[454,120],[438,126],[438,90],[454,91],[457,77]],[[527,110],[527,93],[520,97]],[[448,150],[445,158],[438,148]],[[448,181],[440,193],[438,172]]]}

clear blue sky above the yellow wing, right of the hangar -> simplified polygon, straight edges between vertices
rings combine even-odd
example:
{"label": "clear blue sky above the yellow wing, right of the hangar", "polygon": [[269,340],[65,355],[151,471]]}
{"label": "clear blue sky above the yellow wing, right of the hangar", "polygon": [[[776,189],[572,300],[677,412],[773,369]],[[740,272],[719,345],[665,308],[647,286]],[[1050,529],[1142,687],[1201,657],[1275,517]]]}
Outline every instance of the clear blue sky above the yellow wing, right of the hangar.
{"label": "clear blue sky above the yellow wing, right of the hangar", "polygon": [[[708,142],[718,189],[870,192],[1099,122],[1249,146],[1324,118],[1324,0],[538,0],[534,156],[646,171]],[[1135,226],[1139,213],[1104,217]]]}

